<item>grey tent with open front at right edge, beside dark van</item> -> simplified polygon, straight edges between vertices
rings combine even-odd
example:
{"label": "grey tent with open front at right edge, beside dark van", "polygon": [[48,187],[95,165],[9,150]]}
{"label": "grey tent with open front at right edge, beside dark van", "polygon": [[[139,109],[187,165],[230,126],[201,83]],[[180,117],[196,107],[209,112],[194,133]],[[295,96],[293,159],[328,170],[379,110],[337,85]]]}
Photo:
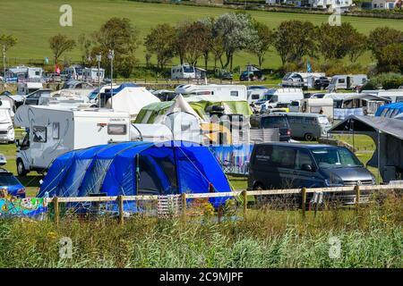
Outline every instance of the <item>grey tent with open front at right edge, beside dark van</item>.
{"label": "grey tent with open front at right edge, beside dark van", "polygon": [[373,167],[380,166],[383,181],[402,179],[403,121],[385,117],[352,115],[329,130],[330,133],[352,131],[356,134],[368,135],[375,142],[376,150],[367,164]]}

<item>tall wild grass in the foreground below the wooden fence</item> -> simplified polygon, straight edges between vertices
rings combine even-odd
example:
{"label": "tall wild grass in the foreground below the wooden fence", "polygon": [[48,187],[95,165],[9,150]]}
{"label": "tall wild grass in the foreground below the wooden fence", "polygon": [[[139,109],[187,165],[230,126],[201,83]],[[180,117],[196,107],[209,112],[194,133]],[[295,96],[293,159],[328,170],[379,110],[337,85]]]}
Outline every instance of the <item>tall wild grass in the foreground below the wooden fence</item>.
{"label": "tall wild grass in the foreground below the wooden fence", "polygon": [[[245,219],[0,220],[0,267],[402,267],[403,201],[319,212],[251,210]],[[62,237],[73,257],[59,258]],[[330,237],[340,240],[331,258]]]}

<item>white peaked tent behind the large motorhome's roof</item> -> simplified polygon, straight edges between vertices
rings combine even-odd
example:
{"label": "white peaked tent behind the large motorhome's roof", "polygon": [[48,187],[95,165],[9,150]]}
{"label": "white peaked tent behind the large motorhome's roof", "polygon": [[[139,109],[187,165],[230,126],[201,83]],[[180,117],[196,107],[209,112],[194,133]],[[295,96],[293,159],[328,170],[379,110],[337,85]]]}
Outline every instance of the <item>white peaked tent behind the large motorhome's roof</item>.
{"label": "white peaked tent behind the large motorhome's roof", "polygon": [[126,87],[109,98],[105,107],[113,108],[117,112],[129,113],[132,118],[135,118],[142,107],[159,101],[159,98],[146,88]]}

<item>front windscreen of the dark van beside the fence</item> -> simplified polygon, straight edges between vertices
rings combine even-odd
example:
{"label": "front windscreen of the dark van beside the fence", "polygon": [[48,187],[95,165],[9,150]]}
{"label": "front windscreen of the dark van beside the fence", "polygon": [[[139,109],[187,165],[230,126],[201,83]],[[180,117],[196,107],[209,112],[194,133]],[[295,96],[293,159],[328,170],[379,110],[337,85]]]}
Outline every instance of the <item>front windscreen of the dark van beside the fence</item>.
{"label": "front windscreen of the dark van beside the fence", "polygon": [[345,147],[318,147],[312,150],[320,168],[362,167],[363,164]]}

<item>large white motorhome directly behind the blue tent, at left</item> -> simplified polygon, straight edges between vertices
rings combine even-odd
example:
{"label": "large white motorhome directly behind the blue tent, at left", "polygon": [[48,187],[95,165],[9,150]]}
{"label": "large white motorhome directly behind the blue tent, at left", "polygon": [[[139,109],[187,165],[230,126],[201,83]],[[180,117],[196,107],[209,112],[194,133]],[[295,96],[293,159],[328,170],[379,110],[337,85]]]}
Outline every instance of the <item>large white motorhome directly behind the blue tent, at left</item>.
{"label": "large white motorhome directly behind the blue tent, at left", "polygon": [[14,116],[25,128],[17,140],[17,172],[44,172],[65,152],[130,140],[130,117],[109,109],[22,105]]}

